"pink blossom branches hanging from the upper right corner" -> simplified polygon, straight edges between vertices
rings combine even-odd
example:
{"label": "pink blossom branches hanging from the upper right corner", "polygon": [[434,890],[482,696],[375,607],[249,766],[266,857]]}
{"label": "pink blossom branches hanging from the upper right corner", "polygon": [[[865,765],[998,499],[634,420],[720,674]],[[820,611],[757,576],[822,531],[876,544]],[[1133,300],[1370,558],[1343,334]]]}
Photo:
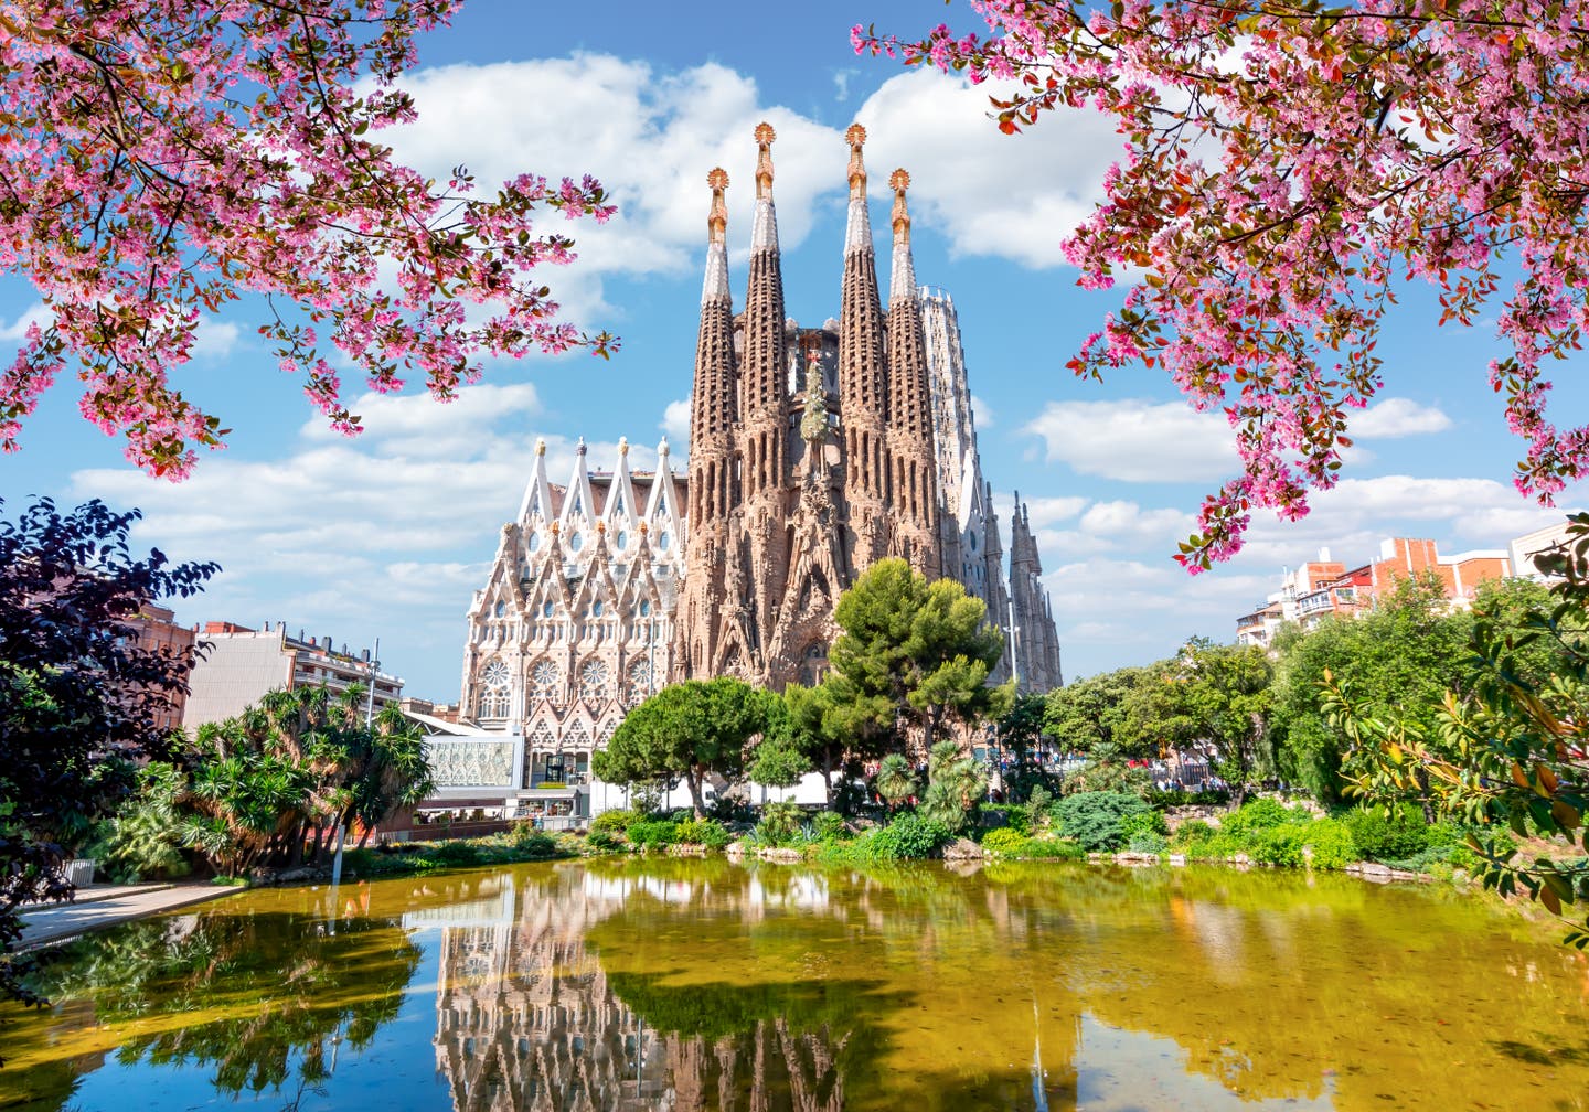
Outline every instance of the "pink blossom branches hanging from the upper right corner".
{"label": "pink blossom branches hanging from the upper right corner", "polygon": [[[1589,326],[1589,0],[971,0],[988,35],[858,51],[1012,81],[1019,132],[1054,108],[1117,119],[1122,162],[1066,241],[1081,284],[1136,278],[1069,367],[1162,367],[1222,408],[1239,477],[1177,559],[1239,546],[1255,508],[1308,512],[1349,415],[1384,384],[1381,321],[1409,280],[1441,322],[1498,322],[1489,365],[1545,504],[1589,467],[1548,419],[1545,365]],[[1517,280],[1502,291],[1502,275]]]}

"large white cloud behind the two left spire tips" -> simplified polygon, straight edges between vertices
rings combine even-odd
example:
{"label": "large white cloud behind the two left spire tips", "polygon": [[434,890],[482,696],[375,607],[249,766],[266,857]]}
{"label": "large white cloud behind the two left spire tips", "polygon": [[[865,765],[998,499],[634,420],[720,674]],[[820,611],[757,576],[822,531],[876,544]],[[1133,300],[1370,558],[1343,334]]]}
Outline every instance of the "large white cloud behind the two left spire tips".
{"label": "large white cloud behind the two left spire tips", "polygon": [[[818,197],[844,187],[839,132],[766,103],[753,78],[713,62],[667,73],[640,60],[574,54],[435,67],[405,78],[405,87],[419,119],[383,141],[426,173],[464,164],[481,191],[526,170],[553,180],[591,173],[607,187],[618,214],[605,226],[545,218],[577,243],[580,261],[548,281],[580,321],[615,311],[601,300],[602,275],[679,275],[699,264],[712,167],[725,167],[731,181],[729,243],[748,243],[750,137],[763,119],[779,135],[775,195],[787,248],[806,238]],[[524,110],[550,103],[558,111]]]}

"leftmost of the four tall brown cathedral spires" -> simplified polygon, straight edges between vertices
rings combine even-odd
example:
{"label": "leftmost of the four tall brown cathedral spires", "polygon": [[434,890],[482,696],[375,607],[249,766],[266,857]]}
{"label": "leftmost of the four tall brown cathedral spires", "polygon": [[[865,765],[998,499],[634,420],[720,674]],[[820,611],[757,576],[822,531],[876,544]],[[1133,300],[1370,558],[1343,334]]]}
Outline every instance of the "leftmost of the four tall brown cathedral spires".
{"label": "leftmost of the four tall brown cathedral spires", "polygon": [[696,340],[694,388],[690,397],[690,548],[679,599],[683,677],[710,675],[723,634],[729,548],[729,513],[739,500],[734,475],[734,302],[728,292],[728,173],[707,175],[706,280],[701,286],[701,334]]}

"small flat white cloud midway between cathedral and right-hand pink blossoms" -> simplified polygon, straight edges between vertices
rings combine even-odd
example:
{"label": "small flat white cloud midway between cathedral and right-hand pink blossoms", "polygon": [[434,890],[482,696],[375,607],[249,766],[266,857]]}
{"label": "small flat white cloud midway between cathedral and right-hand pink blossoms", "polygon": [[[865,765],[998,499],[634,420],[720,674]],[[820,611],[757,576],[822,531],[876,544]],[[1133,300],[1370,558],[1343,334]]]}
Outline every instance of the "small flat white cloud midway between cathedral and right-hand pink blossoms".
{"label": "small flat white cloud midway between cathedral and right-hand pink blossoms", "polygon": [[1050,464],[1127,483],[1206,483],[1239,467],[1225,418],[1181,402],[1049,402],[1022,432],[1044,440]]}

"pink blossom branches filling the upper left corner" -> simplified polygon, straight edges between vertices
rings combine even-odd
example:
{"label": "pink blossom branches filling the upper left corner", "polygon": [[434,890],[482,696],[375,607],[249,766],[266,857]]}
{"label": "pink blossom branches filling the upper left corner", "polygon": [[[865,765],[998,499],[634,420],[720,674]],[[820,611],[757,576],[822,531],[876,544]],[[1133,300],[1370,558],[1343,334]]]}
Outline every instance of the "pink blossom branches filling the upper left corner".
{"label": "pink blossom branches filling the upper left corner", "polygon": [[[447,400],[488,356],[588,346],[542,264],[572,241],[547,210],[605,221],[591,178],[442,186],[375,135],[415,35],[461,0],[0,0],[0,270],[44,303],[0,372],[0,448],[62,372],[127,458],[181,478],[226,429],[173,383],[202,319],[246,294],[283,370],[343,432],[337,369],[410,375]],[[467,313],[466,305],[478,305]]]}

